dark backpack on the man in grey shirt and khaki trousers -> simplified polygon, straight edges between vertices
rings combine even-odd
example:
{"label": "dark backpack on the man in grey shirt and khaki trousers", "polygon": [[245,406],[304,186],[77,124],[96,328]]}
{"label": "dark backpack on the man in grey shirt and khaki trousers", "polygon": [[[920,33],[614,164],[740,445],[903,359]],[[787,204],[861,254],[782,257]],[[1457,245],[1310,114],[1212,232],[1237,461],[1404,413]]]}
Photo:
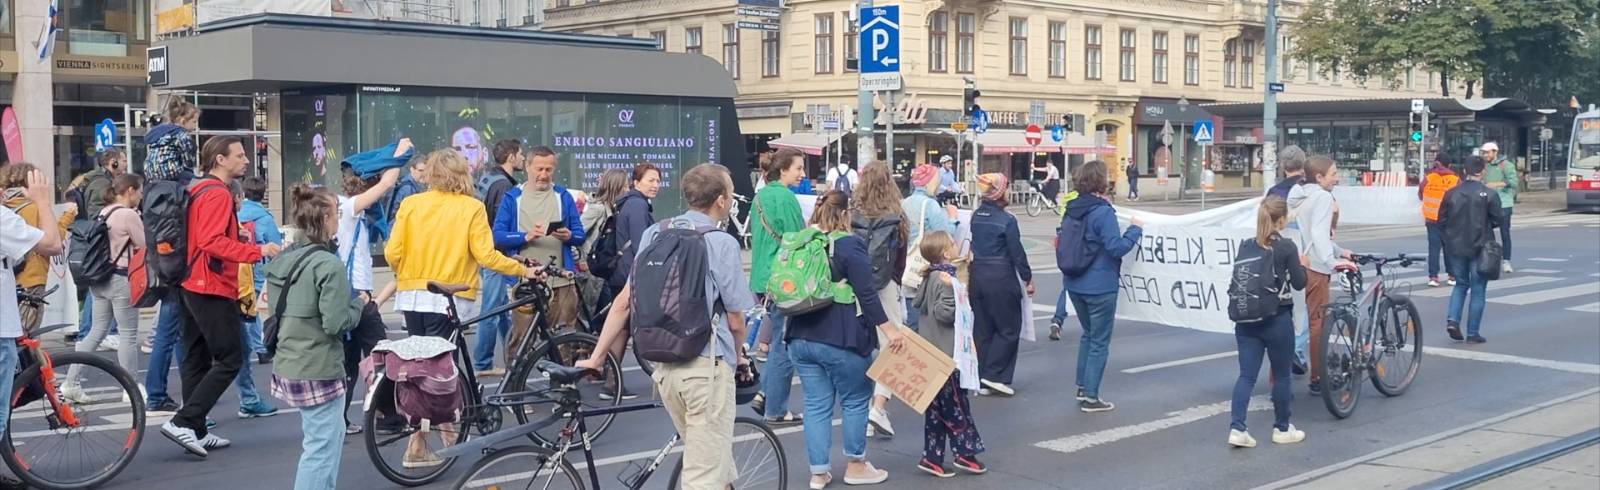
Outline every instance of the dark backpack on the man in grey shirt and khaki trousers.
{"label": "dark backpack on the man in grey shirt and khaki trousers", "polygon": [[634,261],[634,296],[629,323],[638,357],[653,362],[688,362],[710,341],[712,311],[706,304],[710,259],[706,234],[714,226],[670,227],[658,224],[656,240]]}

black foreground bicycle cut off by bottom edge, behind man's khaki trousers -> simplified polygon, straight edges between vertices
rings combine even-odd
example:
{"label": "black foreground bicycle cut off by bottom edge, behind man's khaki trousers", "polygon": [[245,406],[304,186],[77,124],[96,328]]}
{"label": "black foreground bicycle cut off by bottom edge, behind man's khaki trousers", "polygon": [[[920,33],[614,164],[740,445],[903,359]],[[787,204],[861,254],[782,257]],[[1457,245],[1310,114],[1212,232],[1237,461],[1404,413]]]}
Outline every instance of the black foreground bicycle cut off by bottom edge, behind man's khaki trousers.
{"label": "black foreground bicycle cut off by bottom edge, behind man's khaki trousers", "polygon": [[[578,405],[578,392],[573,391],[573,384],[587,376],[589,373],[582,368],[562,367],[550,362],[539,362],[539,370],[550,376],[554,386],[542,392],[525,392],[525,394],[506,394],[494,397],[494,404],[541,404],[549,400],[549,396],[555,396],[557,404],[563,407]],[[576,416],[568,418],[562,429],[562,440],[581,440],[584,450],[584,461],[587,468],[589,485],[595,490],[600,487],[600,474],[595,471],[594,448],[589,440],[589,428],[586,424],[587,416],[608,416],[616,413],[643,412],[661,408],[659,400],[629,404],[621,407],[605,407],[605,408],[589,408],[576,410]],[[555,416],[546,418],[542,421],[522,424],[517,428],[506,429],[504,432],[493,434],[472,440],[464,445],[451,447],[443,453],[450,453],[453,458],[467,453],[483,453],[485,458],[472,464],[466,474],[456,479],[451,488],[589,488],[584,487],[582,477],[578,469],[566,461],[566,453],[573,448],[571,444],[554,444],[554,445],[517,445],[509,448],[496,450],[494,445],[520,439],[522,434],[536,432],[546,426],[552,426],[560,420]],[[667,444],[650,458],[650,463],[638,468],[632,474],[618,476],[618,482],[624,487],[638,490],[645,487],[645,482],[661,469],[662,461],[667,455],[677,448],[680,434],[672,434]],[[784,456],[784,447],[765,423],[739,416],[733,421],[733,444],[734,444],[734,461],[739,461],[739,477],[730,482],[734,488],[789,488],[789,460]],[[678,460],[677,469],[672,472],[672,479],[667,482],[667,488],[678,488],[678,477],[683,472],[683,460]]]}

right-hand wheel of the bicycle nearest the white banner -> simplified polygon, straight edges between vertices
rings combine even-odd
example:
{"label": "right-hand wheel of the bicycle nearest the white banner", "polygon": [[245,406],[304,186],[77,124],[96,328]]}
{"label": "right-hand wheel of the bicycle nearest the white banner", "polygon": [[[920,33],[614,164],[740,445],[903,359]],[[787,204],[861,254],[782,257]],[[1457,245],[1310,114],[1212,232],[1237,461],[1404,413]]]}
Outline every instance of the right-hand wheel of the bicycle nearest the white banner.
{"label": "right-hand wheel of the bicycle nearest the white banner", "polygon": [[1386,298],[1378,306],[1378,325],[1373,341],[1373,388],[1378,392],[1398,397],[1416,381],[1416,372],[1422,368],[1422,317],[1416,312],[1416,304],[1395,306]]}

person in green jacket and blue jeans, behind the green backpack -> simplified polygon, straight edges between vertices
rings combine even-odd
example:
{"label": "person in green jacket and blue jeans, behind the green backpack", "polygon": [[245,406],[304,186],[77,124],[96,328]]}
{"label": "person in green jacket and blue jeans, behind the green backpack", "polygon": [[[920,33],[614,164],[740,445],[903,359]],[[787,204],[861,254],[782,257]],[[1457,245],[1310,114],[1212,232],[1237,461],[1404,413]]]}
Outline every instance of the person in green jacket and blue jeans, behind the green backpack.
{"label": "person in green jacket and blue jeans, behind the green backpack", "polygon": [[[779,149],[763,168],[766,186],[755,191],[755,208],[750,215],[750,291],[766,299],[766,280],[773,277],[773,261],[778,258],[784,235],[805,227],[805,216],[800,215],[800,200],[789,186],[798,184],[805,178],[805,154],[797,149]],[[757,351],[766,355],[762,365],[762,392],[750,400],[750,408],[762,415],[770,426],[794,426],[803,418],[789,412],[789,392],[795,378],[794,362],[789,360],[789,346],[784,343],[784,331],[789,319],[778,311],[778,304],[765,301],[766,320],[757,338]]]}

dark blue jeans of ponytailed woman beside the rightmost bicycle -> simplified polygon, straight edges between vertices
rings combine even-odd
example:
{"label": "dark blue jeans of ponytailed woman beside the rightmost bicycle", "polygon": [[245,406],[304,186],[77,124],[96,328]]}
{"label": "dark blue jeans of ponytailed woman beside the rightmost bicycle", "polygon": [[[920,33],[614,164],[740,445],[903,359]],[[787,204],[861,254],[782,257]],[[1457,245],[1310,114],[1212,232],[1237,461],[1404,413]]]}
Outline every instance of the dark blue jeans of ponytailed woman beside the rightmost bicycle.
{"label": "dark blue jeans of ponytailed woman beside the rightmost bicycle", "polygon": [[1250,392],[1256,389],[1256,375],[1261,373],[1261,354],[1272,360],[1272,426],[1278,431],[1290,429],[1290,363],[1294,359],[1293,312],[1280,309],[1266,322],[1238,323],[1234,327],[1234,339],[1238,341],[1238,381],[1234,383],[1234,420],[1235,431],[1245,431],[1245,415],[1250,413]]}

